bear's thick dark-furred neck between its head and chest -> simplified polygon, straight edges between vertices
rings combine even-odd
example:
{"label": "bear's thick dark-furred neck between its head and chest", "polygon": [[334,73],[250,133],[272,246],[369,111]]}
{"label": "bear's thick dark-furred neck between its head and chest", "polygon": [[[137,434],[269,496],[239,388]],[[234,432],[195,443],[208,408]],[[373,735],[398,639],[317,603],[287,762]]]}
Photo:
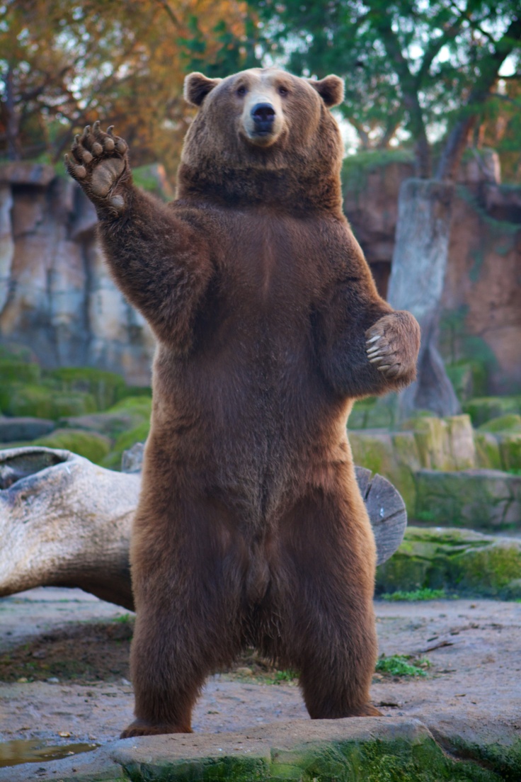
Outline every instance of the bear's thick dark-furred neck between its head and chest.
{"label": "bear's thick dark-furred neck between its head and chest", "polygon": [[219,177],[205,167],[181,163],[177,172],[177,199],[219,206],[269,206],[287,213],[342,215],[340,176],[298,178],[291,170],[222,170]]}

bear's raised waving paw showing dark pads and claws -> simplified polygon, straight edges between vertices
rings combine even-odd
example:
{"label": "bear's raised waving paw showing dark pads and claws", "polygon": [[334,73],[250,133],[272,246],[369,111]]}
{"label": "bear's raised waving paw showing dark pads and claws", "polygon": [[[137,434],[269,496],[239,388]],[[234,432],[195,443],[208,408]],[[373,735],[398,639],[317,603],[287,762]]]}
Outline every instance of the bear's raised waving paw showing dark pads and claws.
{"label": "bear's raised waving paw showing dark pads and claws", "polygon": [[112,125],[107,132],[101,130],[99,122],[91,127],[87,125],[82,135],[77,135],[70,150],[71,156],[65,156],[67,171],[96,205],[106,204],[120,213],[125,208],[125,198],[121,192],[115,192],[120,182],[128,177],[128,147],[123,138],[112,133]]}

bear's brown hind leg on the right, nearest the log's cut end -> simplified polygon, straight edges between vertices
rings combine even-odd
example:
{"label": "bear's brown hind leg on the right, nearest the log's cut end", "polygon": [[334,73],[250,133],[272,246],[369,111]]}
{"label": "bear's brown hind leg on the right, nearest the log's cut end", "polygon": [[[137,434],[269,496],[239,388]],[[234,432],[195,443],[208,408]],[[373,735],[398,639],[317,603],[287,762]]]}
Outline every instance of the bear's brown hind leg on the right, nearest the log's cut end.
{"label": "bear's brown hind leg on the right, nearest the log's cut end", "polygon": [[377,655],[376,556],[362,498],[317,491],[293,508],[281,529],[283,656],[300,671],[309,716],[380,715],[369,702]]}

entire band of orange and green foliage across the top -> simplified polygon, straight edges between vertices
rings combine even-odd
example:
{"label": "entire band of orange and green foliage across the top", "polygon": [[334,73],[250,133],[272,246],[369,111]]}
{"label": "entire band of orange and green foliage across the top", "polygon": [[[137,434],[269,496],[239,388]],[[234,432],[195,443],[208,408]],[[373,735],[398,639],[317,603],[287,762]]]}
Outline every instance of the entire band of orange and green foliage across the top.
{"label": "entire band of orange and green foliage across the top", "polygon": [[344,77],[359,146],[412,146],[419,176],[469,139],[521,172],[519,0],[0,0],[0,156],[59,160],[101,119],[173,174],[184,75],[261,63]]}

